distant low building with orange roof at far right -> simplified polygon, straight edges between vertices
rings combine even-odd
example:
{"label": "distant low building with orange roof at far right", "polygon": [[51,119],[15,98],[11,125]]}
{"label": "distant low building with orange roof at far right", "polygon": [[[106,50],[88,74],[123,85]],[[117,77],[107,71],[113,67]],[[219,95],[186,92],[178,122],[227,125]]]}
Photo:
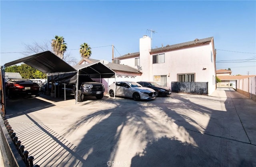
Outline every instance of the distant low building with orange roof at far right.
{"label": "distant low building with orange roof at far right", "polygon": [[217,83],[217,87],[233,87],[236,89],[236,80],[242,80],[244,78],[255,77],[256,75],[247,75],[247,76],[232,76],[232,71],[230,70],[216,70],[216,76],[220,79],[221,82]]}

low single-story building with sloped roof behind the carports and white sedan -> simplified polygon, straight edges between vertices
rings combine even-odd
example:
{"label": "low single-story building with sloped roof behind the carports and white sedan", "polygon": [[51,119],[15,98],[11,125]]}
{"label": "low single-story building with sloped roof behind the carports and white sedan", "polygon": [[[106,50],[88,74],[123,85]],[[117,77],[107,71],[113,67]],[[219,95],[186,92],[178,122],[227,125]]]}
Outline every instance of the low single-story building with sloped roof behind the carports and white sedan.
{"label": "low single-story building with sloped roof behind the carports and white sedan", "polygon": [[[80,64],[94,64],[97,62],[101,62],[100,60],[90,59],[90,58],[82,58],[77,65]],[[140,80],[141,72],[139,72],[136,68],[115,64],[110,62],[103,62],[108,68],[113,70],[116,73],[116,78],[104,78],[104,79],[94,79],[97,82],[101,82],[105,85],[106,91],[108,92],[108,86],[115,81],[135,81]]]}

